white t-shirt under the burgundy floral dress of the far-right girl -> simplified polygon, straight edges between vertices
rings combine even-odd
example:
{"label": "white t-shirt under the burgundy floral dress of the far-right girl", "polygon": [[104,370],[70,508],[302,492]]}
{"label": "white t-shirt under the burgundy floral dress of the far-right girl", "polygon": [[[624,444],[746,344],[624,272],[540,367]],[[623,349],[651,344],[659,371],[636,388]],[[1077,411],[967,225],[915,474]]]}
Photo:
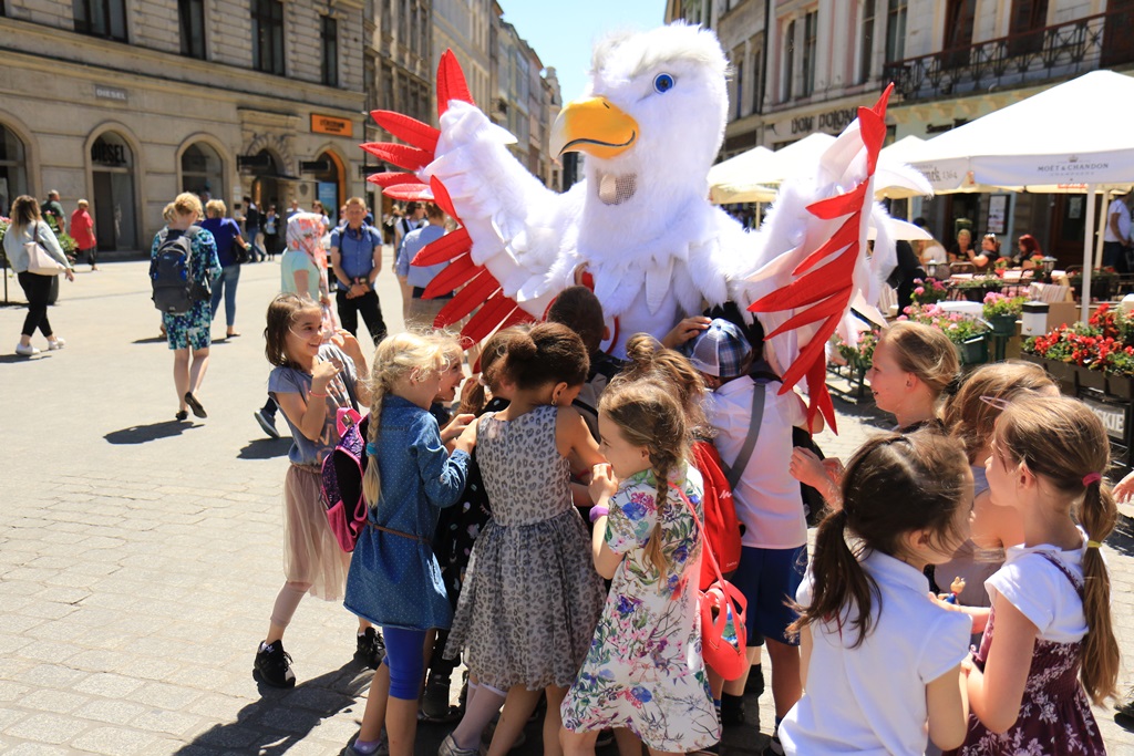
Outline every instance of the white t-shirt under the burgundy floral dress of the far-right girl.
{"label": "white t-shirt under the burgundy floral dress of the far-right girl", "polygon": [[[1084,540],[1086,536],[1083,536]],[[1067,576],[1041,551],[1063,562],[1080,580],[1083,579],[1083,549],[1061,551],[1057,546],[1009,546],[1004,567],[984,581],[992,605],[1007,601],[1039,628],[1040,638],[1053,643],[1074,643],[1086,635],[1083,601]]]}

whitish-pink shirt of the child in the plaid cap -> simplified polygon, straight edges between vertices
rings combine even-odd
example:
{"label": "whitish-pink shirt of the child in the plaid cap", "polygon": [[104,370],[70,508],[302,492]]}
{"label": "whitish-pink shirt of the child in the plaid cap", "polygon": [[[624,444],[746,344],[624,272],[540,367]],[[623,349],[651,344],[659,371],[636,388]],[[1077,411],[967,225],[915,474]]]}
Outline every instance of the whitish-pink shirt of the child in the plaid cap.
{"label": "whitish-pink shirt of the child in the plaid cap", "polygon": [[[792,426],[805,422],[806,410],[794,391],[780,396],[779,388],[776,381],[764,388],[756,445],[733,491],[736,516],[745,527],[741,538],[745,546],[795,549],[807,543],[799,482],[788,473]],[[748,435],[753,391],[755,382],[744,375],[717,389],[705,401],[709,424],[717,430],[717,451],[730,467]]]}

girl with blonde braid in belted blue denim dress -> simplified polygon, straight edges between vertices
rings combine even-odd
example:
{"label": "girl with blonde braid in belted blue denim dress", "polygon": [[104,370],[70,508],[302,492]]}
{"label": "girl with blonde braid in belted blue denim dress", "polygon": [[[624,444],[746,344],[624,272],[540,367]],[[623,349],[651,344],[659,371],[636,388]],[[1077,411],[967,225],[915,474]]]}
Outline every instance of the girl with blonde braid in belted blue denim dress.
{"label": "girl with blonde braid in belted blue denim dress", "polygon": [[363,475],[369,527],[355,546],[344,604],[382,628],[389,653],[348,749],[355,755],[378,750],[383,724],[390,756],[414,753],[426,636],[452,622],[432,541],[440,510],[464,491],[473,436],[457,438],[450,456],[429,413],[450,347],[438,335],[399,333],[374,354]]}

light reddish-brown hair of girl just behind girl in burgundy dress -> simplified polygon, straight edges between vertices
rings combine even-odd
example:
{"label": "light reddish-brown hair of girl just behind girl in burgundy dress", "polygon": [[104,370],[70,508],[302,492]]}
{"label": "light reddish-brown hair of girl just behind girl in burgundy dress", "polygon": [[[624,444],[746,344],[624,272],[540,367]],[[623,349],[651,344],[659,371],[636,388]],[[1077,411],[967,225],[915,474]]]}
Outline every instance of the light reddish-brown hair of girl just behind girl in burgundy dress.
{"label": "light reddish-brown hair of girl just behind girl in burgundy dress", "polygon": [[970,465],[983,465],[976,459],[992,438],[996,418],[1006,402],[1044,390],[1056,384],[1042,367],[1033,363],[1008,360],[982,365],[960,384],[960,390],[945,406],[945,427],[949,435],[965,444]]}

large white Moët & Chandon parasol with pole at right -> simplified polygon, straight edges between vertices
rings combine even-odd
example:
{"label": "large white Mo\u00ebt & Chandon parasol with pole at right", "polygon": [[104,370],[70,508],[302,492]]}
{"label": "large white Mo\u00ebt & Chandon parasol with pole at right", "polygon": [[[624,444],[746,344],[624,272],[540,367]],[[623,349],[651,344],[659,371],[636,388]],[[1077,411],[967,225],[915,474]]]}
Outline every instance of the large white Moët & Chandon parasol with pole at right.
{"label": "large white Mo\u00ebt & Chandon parasol with pole at right", "polygon": [[[913,167],[934,187],[984,185],[1093,195],[1134,182],[1134,131],[1116,104],[1134,78],[1091,71],[928,141]],[[1090,291],[1094,203],[1086,203],[1083,290]],[[1090,297],[1083,296],[1082,318]]]}

